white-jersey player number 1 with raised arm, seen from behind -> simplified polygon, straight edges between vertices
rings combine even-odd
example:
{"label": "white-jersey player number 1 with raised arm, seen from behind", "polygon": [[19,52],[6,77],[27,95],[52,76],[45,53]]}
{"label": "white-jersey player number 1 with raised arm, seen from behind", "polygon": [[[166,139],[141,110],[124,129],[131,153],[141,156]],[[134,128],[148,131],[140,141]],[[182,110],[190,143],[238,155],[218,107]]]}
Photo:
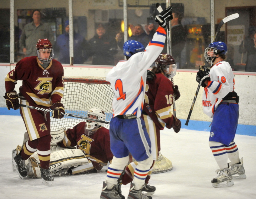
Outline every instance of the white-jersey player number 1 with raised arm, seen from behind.
{"label": "white-jersey player number 1 with raised arm, seen from behind", "polygon": [[144,48],[135,40],[126,41],[123,50],[127,60],[119,61],[106,77],[115,94],[112,101],[114,113],[109,129],[110,148],[114,157],[103,182],[100,196],[102,199],[124,198],[117,194],[116,185],[129,161],[129,152],[138,161],[138,165],[128,199],[152,198],[141,191],[153,159],[145,122],[140,116],[144,103],[147,69],[163,50],[166,38],[164,28],[172,19],[171,7],[163,10],[155,19],[160,26],[147,47]]}

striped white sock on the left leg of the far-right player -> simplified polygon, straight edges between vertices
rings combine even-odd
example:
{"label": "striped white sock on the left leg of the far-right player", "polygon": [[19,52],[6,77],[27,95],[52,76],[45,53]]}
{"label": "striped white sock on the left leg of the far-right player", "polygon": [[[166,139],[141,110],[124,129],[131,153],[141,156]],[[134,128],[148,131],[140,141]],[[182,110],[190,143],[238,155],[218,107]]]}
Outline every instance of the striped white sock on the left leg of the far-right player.
{"label": "striped white sock on the left leg of the far-right player", "polygon": [[209,141],[212,154],[219,165],[220,169],[228,167],[228,153],[226,147],[220,142]]}

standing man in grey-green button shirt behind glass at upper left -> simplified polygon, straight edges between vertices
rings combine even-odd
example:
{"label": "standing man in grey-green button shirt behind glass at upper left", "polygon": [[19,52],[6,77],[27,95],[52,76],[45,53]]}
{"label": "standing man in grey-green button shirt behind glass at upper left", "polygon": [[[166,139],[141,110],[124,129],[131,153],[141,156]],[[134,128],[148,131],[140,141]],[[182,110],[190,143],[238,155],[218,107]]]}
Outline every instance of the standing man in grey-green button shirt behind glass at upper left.
{"label": "standing man in grey-green button shirt behind glass at upper left", "polygon": [[53,31],[48,24],[41,22],[40,10],[33,11],[32,19],[33,22],[24,26],[19,39],[19,47],[25,57],[37,56],[35,45],[38,39],[47,38],[54,43]]}

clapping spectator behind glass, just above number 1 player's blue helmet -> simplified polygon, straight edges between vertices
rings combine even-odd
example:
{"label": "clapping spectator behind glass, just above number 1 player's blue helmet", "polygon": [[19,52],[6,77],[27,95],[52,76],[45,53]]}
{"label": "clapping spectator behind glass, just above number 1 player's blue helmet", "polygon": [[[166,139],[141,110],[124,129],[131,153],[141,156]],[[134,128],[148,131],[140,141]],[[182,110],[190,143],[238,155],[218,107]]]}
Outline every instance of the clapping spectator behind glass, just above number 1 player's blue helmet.
{"label": "clapping spectator behind glass, just above number 1 player's blue helmet", "polygon": [[153,36],[148,35],[140,24],[130,25],[130,28],[132,36],[129,39],[136,40],[142,43],[143,46],[147,46]]}

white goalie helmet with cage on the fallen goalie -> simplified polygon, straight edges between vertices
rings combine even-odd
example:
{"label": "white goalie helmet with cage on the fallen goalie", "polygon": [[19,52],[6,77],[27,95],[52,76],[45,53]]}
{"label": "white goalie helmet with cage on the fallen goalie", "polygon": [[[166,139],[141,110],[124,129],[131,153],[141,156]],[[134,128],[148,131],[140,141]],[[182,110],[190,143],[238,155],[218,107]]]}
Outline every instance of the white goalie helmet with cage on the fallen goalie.
{"label": "white goalie helmet with cage on the fallen goalie", "polygon": [[[96,120],[106,121],[106,114],[105,111],[100,108],[92,108],[87,112],[87,118],[92,118]],[[98,126],[103,125],[104,123],[101,122],[94,122],[91,120],[86,120],[86,130],[93,130],[94,128],[97,128]]]}

